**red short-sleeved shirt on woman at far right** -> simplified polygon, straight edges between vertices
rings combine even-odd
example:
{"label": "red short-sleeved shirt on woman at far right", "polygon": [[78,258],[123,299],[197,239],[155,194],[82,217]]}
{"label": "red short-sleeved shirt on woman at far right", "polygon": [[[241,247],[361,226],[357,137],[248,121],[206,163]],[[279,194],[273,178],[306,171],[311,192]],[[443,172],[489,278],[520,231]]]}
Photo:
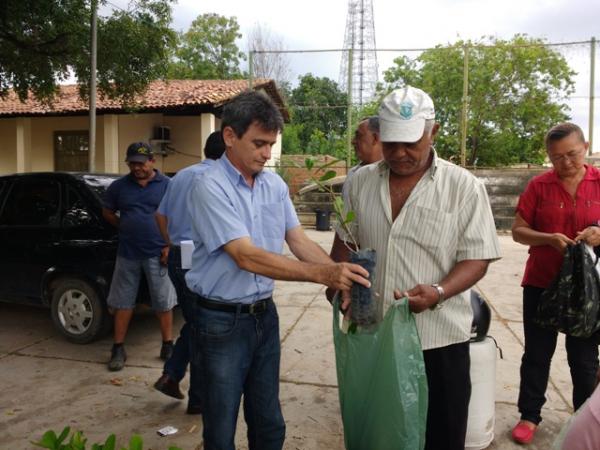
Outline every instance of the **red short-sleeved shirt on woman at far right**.
{"label": "red short-sleeved shirt on woman at far right", "polygon": [[[531,228],[562,233],[571,239],[590,225],[600,225],[600,171],[585,166],[575,200],[562,186],[556,171],[531,179],[519,197],[517,212]],[[560,271],[563,255],[549,245],[529,247],[522,286],[547,288]]]}

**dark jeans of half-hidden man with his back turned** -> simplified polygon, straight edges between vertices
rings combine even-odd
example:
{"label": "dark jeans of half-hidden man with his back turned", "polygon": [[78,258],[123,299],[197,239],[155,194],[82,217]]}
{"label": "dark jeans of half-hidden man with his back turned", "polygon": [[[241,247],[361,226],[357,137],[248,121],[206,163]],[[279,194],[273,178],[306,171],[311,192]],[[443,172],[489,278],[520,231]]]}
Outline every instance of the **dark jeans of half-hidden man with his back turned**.
{"label": "dark jeans of half-hidden man with his back turned", "polygon": [[[175,291],[177,292],[177,303],[183,314],[184,324],[179,332],[177,342],[173,348],[173,355],[164,365],[163,372],[169,375],[175,381],[181,381],[185,376],[185,370],[188,362],[190,362],[191,353],[191,338],[190,338],[190,323],[192,318],[192,304],[194,302],[194,293],[190,291],[185,284],[185,274],[187,269],[181,268],[181,248],[173,246],[169,250],[169,278]],[[200,396],[196,389],[194,376],[196,368],[194,364],[190,364],[190,390],[188,393],[188,401],[192,406],[200,406]]]}

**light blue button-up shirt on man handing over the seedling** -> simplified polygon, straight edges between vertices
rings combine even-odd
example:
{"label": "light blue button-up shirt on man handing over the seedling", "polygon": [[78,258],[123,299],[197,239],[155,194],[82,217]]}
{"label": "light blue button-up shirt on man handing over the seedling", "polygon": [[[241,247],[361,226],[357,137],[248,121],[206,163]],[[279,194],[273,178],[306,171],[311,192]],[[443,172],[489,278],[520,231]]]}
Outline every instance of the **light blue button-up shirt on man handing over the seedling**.
{"label": "light blue button-up shirt on man handing over the seedling", "polygon": [[254,303],[273,293],[273,280],[241,270],[223,245],[242,237],[266,251],[281,253],[285,233],[300,225],[288,187],[273,172],[256,175],[254,187],[226,155],[194,178],[188,196],[194,254],[185,278],[205,298]]}

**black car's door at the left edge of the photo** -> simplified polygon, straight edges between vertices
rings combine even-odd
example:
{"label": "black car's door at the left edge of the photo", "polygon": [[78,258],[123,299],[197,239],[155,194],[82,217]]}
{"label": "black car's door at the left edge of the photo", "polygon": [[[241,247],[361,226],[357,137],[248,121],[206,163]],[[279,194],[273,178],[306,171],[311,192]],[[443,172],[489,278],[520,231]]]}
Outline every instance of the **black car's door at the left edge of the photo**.
{"label": "black car's door at the left edge of the photo", "polygon": [[18,176],[0,212],[0,298],[40,302],[41,280],[60,240],[60,182],[50,175]]}

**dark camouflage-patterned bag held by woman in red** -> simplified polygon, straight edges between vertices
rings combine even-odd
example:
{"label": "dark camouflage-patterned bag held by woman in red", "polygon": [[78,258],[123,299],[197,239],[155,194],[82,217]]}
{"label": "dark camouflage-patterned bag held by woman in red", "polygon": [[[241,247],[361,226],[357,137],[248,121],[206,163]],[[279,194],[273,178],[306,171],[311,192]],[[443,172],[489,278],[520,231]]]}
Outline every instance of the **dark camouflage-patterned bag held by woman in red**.
{"label": "dark camouflage-patterned bag held by woman in red", "polygon": [[558,276],[540,298],[534,321],[542,328],[589,338],[600,329],[597,257],[584,242],[567,247]]}

